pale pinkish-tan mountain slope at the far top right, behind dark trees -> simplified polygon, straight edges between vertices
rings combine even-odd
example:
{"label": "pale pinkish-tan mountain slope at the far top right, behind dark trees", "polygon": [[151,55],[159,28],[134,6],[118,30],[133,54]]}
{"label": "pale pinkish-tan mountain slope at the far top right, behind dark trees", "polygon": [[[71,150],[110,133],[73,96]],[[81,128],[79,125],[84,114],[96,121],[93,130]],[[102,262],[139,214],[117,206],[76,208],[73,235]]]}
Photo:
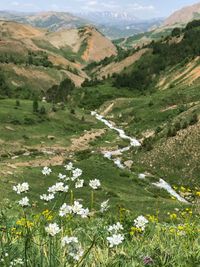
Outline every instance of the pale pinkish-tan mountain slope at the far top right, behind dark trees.
{"label": "pale pinkish-tan mountain slope at the far top right, behind dark trees", "polygon": [[172,26],[175,24],[184,26],[194,19],[200,19],[200,3],[184,7],[174,12],[165,20],[164,26]]}

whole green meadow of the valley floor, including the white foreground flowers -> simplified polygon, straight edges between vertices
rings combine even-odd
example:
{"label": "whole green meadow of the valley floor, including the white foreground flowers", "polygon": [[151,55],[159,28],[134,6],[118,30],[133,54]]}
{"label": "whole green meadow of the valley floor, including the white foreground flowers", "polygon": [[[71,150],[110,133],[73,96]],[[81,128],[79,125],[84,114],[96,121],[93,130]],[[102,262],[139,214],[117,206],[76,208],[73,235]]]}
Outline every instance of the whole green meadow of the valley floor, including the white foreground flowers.
{"label": "whole green meadow of the valley floor, including the white foreground flowers", "polygon": [[[64,106],[38,101],[38,112],[31,100],[1,99],[0,266],[198,267],[198,170],[186,180],[178,156],[167,171],[160,157],[148,162],[178,138],[167,136],[170,125],[183,118],[187,129],[198,126],[189,125],[197,100],[195,86],[141,95],[110,83],[76,90]],[[151,147],[120,156],[130,168],[103,157],[129,142],[91,116],[95,109],[139,140],[157,133]],[[188,204],[152,184],[161,177]]]}

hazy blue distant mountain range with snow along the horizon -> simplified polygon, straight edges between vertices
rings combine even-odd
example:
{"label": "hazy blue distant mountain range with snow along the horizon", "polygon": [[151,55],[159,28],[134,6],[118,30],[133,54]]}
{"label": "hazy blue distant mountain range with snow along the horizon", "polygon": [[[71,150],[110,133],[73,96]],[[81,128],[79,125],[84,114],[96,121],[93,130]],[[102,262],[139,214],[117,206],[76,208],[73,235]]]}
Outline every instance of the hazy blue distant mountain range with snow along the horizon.
{"label": "hazy blue distant mountain range with snow along the horizon", "polygon": [[90,12],[71,14],[68,12],[22,13],[0,11],[0,20],[12,20],[46,28],[50,31],[74,29],[85,25],[94,25],[110,39],[128,37],[149,28],[159,26],[162,19],[140,20],[132,14],[122,12]]}

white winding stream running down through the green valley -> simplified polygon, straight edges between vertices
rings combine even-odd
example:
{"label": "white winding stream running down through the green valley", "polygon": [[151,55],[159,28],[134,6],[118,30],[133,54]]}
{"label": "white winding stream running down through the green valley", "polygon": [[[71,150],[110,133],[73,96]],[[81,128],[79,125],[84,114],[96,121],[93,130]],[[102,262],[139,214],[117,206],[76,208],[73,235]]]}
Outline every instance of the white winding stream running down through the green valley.
{"label": "white winding stream running down through the green valley", "polygon": [[[141,143],[134,137],[130,137],[128,135],[125,134],[124,130],[119,129],[115,126],[113,126],[113,124],[111,122],[109,122],[108,120],[106,120],[102,115],[99,115],[97,112],[92,111],[91,112],[92,116],[95,116],[95,118],[101,122],[103,122],[108,128],[115,130],[116,132],[118,132],[119,136],[122,139],[126,139],[130,141],[130,145],[115,151],[106,151],[103,152],[103,155],[105,158],[112,160],[114,162],[114,164],[120,168],[120,169],[125,169],[126,166],[121,162],[120,158],[114,158],[113,156],[120,156],[122,155],[124,152],[129,151],[131,147],[140,147]],[[145,179],[145,174],[139,174],[138,177],[143,177],[140,179]],[[159,179],[159,181],[157,183],[152,183],[152,185],[158,187],[158,188],[162,188],[165,189],[171,196],[175,197],[177,200],[179,200],[180,202],[183,203],[188,203],[183,197],[181,197],[166,181],[164,181],[163,179]]]}

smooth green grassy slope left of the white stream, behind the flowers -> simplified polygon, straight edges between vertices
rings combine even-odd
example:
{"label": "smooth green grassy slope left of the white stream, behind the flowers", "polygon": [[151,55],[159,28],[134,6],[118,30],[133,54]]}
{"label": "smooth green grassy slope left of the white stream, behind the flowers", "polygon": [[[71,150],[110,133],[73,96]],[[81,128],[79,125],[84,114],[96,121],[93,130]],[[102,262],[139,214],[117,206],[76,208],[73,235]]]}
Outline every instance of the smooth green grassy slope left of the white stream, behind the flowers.
{"label": "smooth green grassy slope left of the white stream, behind the flowers", "polygon": [[[47,110],[50,110],[50,105],[46,104],[45,106]],[[2,154],[9,152],[12,157],[20,150],[27,147],[32,149],[38,148],[41,144],[43,147],[67,147],[70,144],[70,139],[74,136],[79,136],[84,130],[104,127],[104,125],[95,122],[89,114],[84,115],[85,122],[82,122],[80,120],[82,115],[83,111],[81,110],[77,110],[76,115],[72,115],[66,108],[64,111],[60,110],[56,113],[50,113],[41,120],[38,115],[32,113],[32,102],[21,101],[21,107],[16,109],[14,100],[1,100],[1,151],[4,152]],[[31,125],[24,123],[25,118],[32,120]],[[13,131],[8,130],[7,127],[11,127]],[[47,138],[48,135],[55,136],[55,140],[49,140]],[[107,131],[102,138],[96,139],[91,144],[91,150],[96,151],[93,155],[90,152],[91,150],[89,150],[89,152],[85,153],[77,152],[73,156],[73,159],[77,161],[77,166],[83,169],[86,181],[92,178],[101,179],[103,190],[97,193],[97,200],[110,198],[114,209],[121,205],[132,210],[134,214],[139,214],[142,211],[155,213],[157,210],[161,210],[162,213],[164,205],[167,205],[169,210],[177,205],[162,190],[153,188],[149,183],[138,181],[137,176],[118,170],[112,162],[103,159],[98,149],[105,144],[106,140],[110,140],[111,145],[125,145],[121,140],[118,140],[115,133]],[[26,161],[26,159],[48,159],[47,155],[37,153],[28,158],[20,155],[20,153],[18,156],[18,158],[11,159],[10,157],[4,158],[2,155],[2,171],[7,164],[15,165],[15,163]],[[66,155],[66,159],[68,156]],[[57,179],[56,174],[50,180],[42,177],[41,168],[18,167],[13,169],[8,166],[5,169],[4,175],[1,176],[3,198],[15,199],[11,190],[12,185],[16,182],[28,180],[33,187],[31,197],[37,201],[39,194],[45,193],[48,186],[52,185],[55,179]],[[62,168],[54,167],[54,171],[58,174],[59,171],[62,171]],[[14,175],[9,172],[14,173]],[[81,191],[81,194],[75,193],[77,198],[86,198],[88,201],[87,195],[87,188]]]}

